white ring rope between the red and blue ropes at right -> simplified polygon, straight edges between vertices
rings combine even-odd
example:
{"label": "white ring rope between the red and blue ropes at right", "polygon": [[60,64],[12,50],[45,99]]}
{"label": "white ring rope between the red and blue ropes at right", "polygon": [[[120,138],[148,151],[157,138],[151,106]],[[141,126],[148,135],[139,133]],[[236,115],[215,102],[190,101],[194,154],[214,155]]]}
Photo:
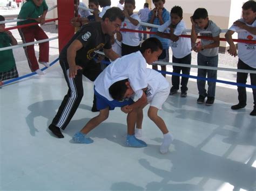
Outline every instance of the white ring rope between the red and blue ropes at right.
{"label": "white ring rope between the red and blue ropes at right", "polygon": [[[104,52],[95,51],[97,54],[105,55]],[[228,72],[240,72],[240,73],[251,73],[256,74],[256,70],[248,70],[248,69],[233,69],[233,68],[222,68],[222,67],[213,67],[213,66],[198,66],[198,65],[188,65],[185,63],[173,63],[173,62],[163,62],[163,61],[156,61],[154,64],[159,64],[163,66],[181,66],[187,68],[200,68],[200,69],[212,69],[212,70],[222,70]]]}

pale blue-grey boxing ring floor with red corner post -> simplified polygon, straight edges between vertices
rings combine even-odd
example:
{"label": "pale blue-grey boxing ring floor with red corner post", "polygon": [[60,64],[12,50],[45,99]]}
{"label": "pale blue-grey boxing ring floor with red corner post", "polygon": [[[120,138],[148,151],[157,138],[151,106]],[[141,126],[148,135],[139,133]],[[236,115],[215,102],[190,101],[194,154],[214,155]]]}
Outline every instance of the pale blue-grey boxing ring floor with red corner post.
{"label": "pale blue-grey boxing ring floor with red corner post", "polygon": [[[67,8],[71,6],[63,8],[64,3],[58,1],[58,10],[62,9],[67,17],[58,11],[59,25],[63,25],[59,31],[70,27]],[[73,28],[68,29],[71,32],[64,31],[73,34]],[[68,34],[58,33],[59,40],[62,35]],[[52,47],[61,49],[63,45],[63,41],[59,44],[56,38],[52,39],[50,52],[54,51]],[[197,67],[196,63],[191,66]],[[192,69],[187,97],[169,96],[159,111],[174,135],[167,154],[159,152],[163,137],[147,117],[148,107],[144,109],[142,137],[147,147],[125,145],[126,115],[119,108],[90,132],[93,144],[74,144],[72,136],[97,115],[91,112],[93,83],[86,78],[83,100],[62,131],[65,138],[54,137],[48,126],[68,89],[55,55],[45,75],[29,73],[5,81],[0,89],[0,189],[255,190],[256,118],[249,115],[253,109],[252,93],[247,88],[246,108],[231,110],[231,105],[237,103],[236,84],[225,78],[230,75],[225,69],[215,69],[223,79],[218,77],[220,83],[211,107],[197,104],[197,84],[192,79],[196,69]],[[227,70],[232,75],[237,71]],[[170,71],[171,67],[167,67],[167,80],[171,83]]]}

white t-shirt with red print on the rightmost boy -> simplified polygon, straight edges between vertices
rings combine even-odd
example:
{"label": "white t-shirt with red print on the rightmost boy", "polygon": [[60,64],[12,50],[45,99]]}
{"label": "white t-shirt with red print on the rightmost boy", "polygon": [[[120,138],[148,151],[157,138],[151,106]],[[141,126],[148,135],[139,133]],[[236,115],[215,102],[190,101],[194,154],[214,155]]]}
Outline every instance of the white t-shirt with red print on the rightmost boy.
{"label": "white t-shirt with red print on the rightmost boy", "polygon": [[[239,21],[245,23],[244,19],[239,19]],[[256,27],[256,20],[253,24],[247,26]],[[256,40],[256,35],[251,34],[248,31],[242,31],[238,26],[232,25],[230,27],[231,31],[238,33],[238,39]],[[245,62],[248,66],[256,68],[256,44],[238,43],[238,58]]]}

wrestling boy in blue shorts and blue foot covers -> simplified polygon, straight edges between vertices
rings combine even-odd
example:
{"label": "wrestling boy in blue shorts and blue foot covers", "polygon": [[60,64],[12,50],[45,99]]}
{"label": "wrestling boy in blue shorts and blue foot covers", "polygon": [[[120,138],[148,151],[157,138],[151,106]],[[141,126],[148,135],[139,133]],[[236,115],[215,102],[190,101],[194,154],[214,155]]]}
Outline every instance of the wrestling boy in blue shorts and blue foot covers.
{"label": "wrestling boy in blue shorts and blue foot covers", "polygon": [[[95,80],[95,95],[99,115],[92,118],[84,128],[73,136],[76,143],[92,143],[93,140],[86,138],[86,134],[96,128],[100,123],[109,117],[109,110],[115,107],[122,107],[122,111],[127,115],[127,137],[126,145],[132,147],[145,147],[146,143],[134,136],[134,129],[137,119],[137,109],[146,103],[146,94],[143,89],[147,87],[146,82],[146,63],[158,59],[163,46],[156,38],[149,38],[144,41],[140,51],[123,56],[107,66]],[[113,84],[129,79],[129,86],[136,91],[139,100],[135,103],[130,98],[133,94],[127,91],[122,102],[113,100],[110,91],[113,91]]]}

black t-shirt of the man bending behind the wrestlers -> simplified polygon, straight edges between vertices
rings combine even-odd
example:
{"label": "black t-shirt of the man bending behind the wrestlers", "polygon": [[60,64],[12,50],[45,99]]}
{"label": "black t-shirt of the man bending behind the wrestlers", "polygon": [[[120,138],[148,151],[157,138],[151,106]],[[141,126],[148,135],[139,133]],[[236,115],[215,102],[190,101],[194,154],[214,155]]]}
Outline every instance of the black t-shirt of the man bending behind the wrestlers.
{"label": "black t-shirt of the man bending behind the wrestlers", "polygon": [[85,24],[77,31],[75,36],[60,52],[60,60],[67,61],[67,49],[74,40],[79,40],[83,48],[79,49],[76,54],[76,65],[84,67],[86,61],[93,59],[95,52],[100,48],[110,49],[111,42],[109,34],[103,34],[100,22]]}

